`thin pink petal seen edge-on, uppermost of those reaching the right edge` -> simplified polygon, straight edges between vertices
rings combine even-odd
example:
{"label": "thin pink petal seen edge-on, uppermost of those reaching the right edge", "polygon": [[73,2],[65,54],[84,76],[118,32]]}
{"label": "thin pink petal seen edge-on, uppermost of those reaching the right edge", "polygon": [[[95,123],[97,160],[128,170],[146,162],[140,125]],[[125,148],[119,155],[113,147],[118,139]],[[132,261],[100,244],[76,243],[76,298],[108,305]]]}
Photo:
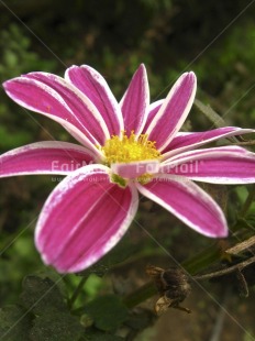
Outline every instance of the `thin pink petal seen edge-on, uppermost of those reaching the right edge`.
{"label": "thin pink petal seen edge-on, uppermost of those reaching the right edge", "polygon": [[204,132],[179,133],[165,148],[165,151],[163,152],[163,157],[164,160],[167,160],[176,154],[197,148],[209,142],[235,135],[248,134],[252,132],[254,132],[254,130],[252,129],[224,127]]}

